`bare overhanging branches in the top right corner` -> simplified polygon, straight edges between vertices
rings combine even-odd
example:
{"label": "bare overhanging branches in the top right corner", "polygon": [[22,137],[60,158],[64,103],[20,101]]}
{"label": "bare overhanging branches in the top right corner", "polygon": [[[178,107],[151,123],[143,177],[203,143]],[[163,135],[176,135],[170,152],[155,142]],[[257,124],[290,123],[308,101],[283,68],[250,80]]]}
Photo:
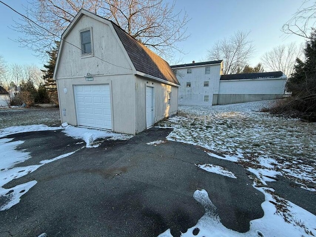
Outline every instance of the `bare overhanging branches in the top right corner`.
{"label": "bare overhanging branches in the top right corner", "polygon": [[285,34],[295,34],[307,39],[311,39],[312,27],[316,25],[316,1],[303,0],[297,12],[283,26]]}

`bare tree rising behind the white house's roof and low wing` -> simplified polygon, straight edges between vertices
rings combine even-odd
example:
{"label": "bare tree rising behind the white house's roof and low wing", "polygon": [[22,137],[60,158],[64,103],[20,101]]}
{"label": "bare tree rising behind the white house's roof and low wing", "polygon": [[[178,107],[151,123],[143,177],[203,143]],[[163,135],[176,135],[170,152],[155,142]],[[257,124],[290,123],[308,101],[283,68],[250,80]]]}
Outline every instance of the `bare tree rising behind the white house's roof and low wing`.
{"label": "bare tree rising behind the white house's roof and low wing", "polygon": [[224,60],[224,74],[235,74],[247,65],[254,54],[253,41],[248,39],[250,32],[237,31],[228,39],[216,41],[208,50],[209,60]]}

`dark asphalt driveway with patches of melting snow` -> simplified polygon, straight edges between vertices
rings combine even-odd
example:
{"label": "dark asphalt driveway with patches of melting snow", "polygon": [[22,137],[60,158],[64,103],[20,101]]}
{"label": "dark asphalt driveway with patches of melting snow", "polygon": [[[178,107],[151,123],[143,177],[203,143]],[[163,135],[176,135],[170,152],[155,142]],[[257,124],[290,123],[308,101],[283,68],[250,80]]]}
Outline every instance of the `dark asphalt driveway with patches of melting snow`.
{"label": "dark asphalt driveway with patches of melting snow", "polygon": [[[224,226],[248,231],[249,221],[264,214],[264,195],[252,187],[248,173],[197,146],[166,141],[170,131],[152,128],[129,140],[104,141],[97,148],[82,147],[81,141],[58,130],[8,136],[25,141],[18,149],[32,157],[19,166],[76,153],[3,187],[38,182],[18,204],[0,211],[0,236],[156,237],[170,228],[176,237],[205,213],[193,198],[201,189],[208,192]],[[146,144],[155,140],[166,142]],[[206,172],[197,163],[221,165],[237,179]]]}

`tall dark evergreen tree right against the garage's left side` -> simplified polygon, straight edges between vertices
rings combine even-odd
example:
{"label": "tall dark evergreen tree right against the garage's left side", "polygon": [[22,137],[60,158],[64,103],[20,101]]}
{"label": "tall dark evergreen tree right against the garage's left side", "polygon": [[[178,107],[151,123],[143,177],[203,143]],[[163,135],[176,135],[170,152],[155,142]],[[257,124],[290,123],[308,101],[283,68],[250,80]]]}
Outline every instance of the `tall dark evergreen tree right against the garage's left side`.
{"label": "tall dark evergreen tree right against the garage's left side", "polygon": [[58,48],[59,42],[56,42],[56,46],[53,47],[50,52],[47,51],[47,54],[49,55],[48,64],[44,64],[45,70],[41,70],[44,73],[43,79],[45,81],[45,87],[47,89],[50,101],[54,102],[57,105],[59,104],[57,95],[57,84],[56,81],[53,79],[53,76],[57,60]]}

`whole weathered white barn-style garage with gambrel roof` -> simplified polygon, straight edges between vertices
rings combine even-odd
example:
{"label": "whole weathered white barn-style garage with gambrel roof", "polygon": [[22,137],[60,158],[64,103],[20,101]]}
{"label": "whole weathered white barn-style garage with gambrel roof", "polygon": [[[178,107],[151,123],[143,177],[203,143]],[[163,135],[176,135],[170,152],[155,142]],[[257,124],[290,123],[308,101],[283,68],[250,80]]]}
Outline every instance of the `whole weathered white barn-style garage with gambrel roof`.
{"label": "whole weathered white barn-style garage with gambrel roof", "polygon": [[167,62],[112,21],[81,9],[62,35],[54,79],[61,121],[136,134],[177,113]]}

